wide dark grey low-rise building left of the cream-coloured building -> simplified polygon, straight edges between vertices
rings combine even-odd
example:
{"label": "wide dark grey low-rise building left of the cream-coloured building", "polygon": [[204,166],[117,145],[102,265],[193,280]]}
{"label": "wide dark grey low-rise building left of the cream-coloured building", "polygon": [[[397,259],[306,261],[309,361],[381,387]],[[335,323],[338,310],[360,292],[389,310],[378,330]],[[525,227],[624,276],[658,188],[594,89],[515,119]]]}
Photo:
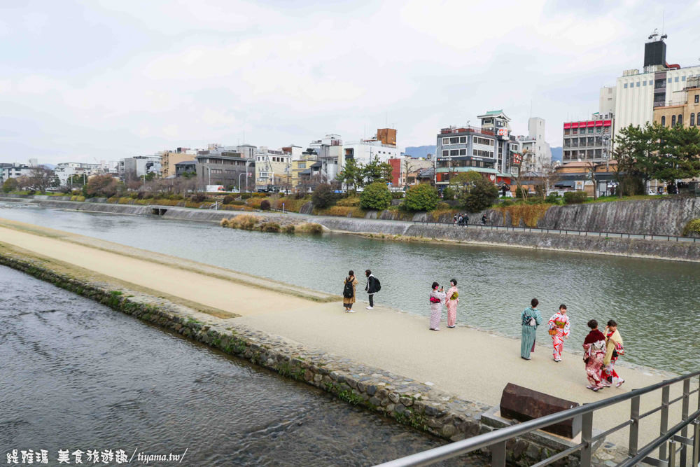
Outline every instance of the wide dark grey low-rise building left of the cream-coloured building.
{"label": "wide dark grey low-rise building left of the cream-coloured building", "polygon": [[223,185],[226,189],[235,188],[241,191],[252,191],[255,188],[255,159],[243,157],[235,151],[236,148],[214,146],[197,151],[197,188],[203,190],[207,185]]}

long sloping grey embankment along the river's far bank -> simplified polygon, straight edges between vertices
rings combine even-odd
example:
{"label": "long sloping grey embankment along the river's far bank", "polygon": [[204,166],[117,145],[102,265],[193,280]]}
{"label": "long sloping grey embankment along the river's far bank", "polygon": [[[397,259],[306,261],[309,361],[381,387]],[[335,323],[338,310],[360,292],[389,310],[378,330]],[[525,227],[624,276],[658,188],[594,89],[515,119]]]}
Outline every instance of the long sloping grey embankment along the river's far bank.
{"label": "long sloping grey embankment along the river's far bank", "polygon": [[[47,197],[50,198],[50,197]],[[71,202],[62,200],[35,200],[27,198],[1,198],[13,202],[38,204],[43,207],[94,211],[111,214],[152,216],[154,213],[184,221],[220,222],[236,216],[236,211],[190,209],[181,207],[154,208],[137,204],[108,204],[103,202]],[[612,204],[612,203],[608,203]],[[456,228],[452,225],[420,224],[407,221],[382,221],[363,218],[310,216],[305,214],[246,213],[260,216],[266,221],[287,223],[311,222],[323,225],[332,232],[372,235],[380,239],[401,241],[433,241],[484,246],[509,246],[513,248],[593,253],[634,258],[700,261],[700,242],[675,242],[666,239],[619,238],[605,236],[566,235],[547,232],[490,230],[477,226]]]}

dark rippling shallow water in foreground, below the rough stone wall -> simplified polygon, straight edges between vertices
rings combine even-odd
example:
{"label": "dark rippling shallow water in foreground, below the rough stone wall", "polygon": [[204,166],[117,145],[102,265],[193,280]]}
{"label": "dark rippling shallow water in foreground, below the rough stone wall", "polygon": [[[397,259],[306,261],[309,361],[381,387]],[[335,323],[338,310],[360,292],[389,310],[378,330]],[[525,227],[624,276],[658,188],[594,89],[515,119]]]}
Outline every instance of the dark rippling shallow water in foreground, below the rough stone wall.
{"label": "dark rippling shallow water in foreground, below the rough stone wall", "polygon": [[365,466],[442,444],[3,266],[0,356],[2,465],[13,449],[45,449],[52,466],[59,449],[71,465],[77,449],[83,463],[88,450],[122,449],[141,465],[139,453],[184,454],[184,466]]}

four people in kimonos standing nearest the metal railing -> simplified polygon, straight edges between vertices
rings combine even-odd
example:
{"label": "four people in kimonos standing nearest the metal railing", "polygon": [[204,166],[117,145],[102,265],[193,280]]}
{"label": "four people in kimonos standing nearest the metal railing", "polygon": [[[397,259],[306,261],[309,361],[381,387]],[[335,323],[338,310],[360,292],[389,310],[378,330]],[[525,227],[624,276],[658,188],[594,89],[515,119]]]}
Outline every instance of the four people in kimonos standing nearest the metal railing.
{"label": "four people in kimonos standing nearest the metal railing", "polygon": [[[520,314],[522,326],[520,356],[525,360],[532,358],[530,354],[535,351],[536,331],[542,323],[542,314],[537,308],[538,305],[538,300],[533,298],[530,307],[524,309]],[[559,305],[559,311],[549,318],[547,325],[549,336],[552,337],[552,356],[555,362],[560,362],[563,343],[565,339],[568,339],[570,332],[566,305]],[[616,387],[622,386],[624,379],[619,377],[615,371],[617,358],[624,354],[622,336],[617,330],[617,323],[612,319],[608,321],[604,333],[598,330],[598,321],[595,319],[588,321],[588,327],[591,331],[583,341],[583,361],[586,364],[586,376],[589,383],[586,387],[593,391],[599,391],[613,384]]]}

